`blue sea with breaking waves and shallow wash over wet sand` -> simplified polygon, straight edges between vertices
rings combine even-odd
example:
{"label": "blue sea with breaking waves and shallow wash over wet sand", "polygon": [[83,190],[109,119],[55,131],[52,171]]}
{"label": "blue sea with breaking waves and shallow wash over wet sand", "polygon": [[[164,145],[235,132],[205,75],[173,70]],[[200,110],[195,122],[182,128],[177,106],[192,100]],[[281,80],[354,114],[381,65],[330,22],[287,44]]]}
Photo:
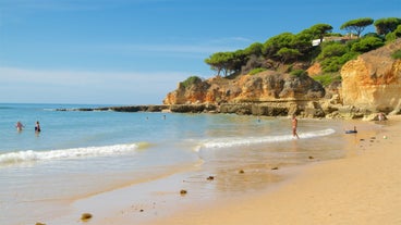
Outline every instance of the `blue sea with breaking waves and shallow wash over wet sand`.
{"label": "blue sea with breaking waves and shallow wash over wet sand", "polygon": [[[100,107],[109,105],[0,103],[0,224],[35,224],[74,200],[194,168],[221,177],[340,159],[352,141],[336,120],[300,118],[295,139],[285,116],[73,110]],[[211,188],[232,195],[271,180],[229,183]]]}

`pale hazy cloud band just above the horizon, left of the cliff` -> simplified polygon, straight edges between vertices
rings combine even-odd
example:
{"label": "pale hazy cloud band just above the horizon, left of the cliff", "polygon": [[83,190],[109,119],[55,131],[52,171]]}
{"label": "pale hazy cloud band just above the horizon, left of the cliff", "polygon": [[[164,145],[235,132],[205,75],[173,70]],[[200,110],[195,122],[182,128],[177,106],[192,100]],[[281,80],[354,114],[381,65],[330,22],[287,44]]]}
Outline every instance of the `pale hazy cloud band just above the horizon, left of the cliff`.
{"label": "pale hazy cloud band just above the horizon, left of the cliff", "polygon": [[0,67],[0,102],[161,103],[187,76]]}

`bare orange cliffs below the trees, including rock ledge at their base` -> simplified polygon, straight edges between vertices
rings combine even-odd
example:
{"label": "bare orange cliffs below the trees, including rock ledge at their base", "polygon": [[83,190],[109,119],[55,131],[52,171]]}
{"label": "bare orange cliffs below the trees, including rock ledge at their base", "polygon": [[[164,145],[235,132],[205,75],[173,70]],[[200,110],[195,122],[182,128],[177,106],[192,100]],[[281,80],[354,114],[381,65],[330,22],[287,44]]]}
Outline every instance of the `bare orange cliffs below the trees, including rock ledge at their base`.
{"label": "bare orange cliffs below the trees, including rock ledge at their base", "polygon": [[[307,75],[265,71],[235,78],[197,79],[191,85],[180,83],[167,95],[163,104],[171,105],[172,112],[296,113],[308,117],[350,118],[373,117],[376,112],[399,114],[401,60],[392,59],[391,54],[400,49],[401,39],[398,39],[349,61],[341,68],[342,82],[326,90]],[[307,71],[318,71],[318,67]]]}

